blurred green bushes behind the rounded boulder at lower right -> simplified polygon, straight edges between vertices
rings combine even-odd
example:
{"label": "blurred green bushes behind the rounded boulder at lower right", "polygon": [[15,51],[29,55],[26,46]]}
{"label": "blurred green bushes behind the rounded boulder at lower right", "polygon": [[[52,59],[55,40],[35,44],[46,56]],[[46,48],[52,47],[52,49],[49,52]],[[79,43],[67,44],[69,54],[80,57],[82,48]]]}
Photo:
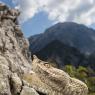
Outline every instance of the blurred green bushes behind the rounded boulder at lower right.
{"label": "blurred green bushes behind the rounded boulder at lower right", "polygon": [[95,71],[91,68],[79,66],[75,68],[72,65],[66,65],[63,68],[71,77],[85,82],[89,88],[89,95],[95,95]]}

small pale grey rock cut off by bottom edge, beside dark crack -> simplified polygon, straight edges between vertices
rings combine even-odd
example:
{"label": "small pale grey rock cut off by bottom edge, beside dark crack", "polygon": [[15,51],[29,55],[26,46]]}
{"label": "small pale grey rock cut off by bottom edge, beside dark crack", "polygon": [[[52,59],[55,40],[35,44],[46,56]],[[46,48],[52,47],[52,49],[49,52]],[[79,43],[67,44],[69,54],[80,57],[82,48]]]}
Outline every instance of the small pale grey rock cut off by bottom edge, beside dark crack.
{"label": "small pale grey rock cut off by bottom edge, beside dark crack", "polygon": [[21,95],[39,95],[39,94],[33,88],[24,86]]}

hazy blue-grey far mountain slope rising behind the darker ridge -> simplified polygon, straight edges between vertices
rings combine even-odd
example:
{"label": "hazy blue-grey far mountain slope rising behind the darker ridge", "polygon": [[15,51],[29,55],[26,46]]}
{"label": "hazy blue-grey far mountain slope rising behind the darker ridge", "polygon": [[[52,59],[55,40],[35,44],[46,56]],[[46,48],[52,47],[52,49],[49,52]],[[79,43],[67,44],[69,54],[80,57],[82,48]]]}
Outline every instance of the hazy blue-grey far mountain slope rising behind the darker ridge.
{"label": "hazy blue-grey far mountain slope rising behind the darker ridge", "polygon": [[30,49],[37,52],[53,40],[59,40],[83,53],[95,51],[95,30],[73,22],[58,23],[47,29],[43,34],[31,36],[29,38]]}

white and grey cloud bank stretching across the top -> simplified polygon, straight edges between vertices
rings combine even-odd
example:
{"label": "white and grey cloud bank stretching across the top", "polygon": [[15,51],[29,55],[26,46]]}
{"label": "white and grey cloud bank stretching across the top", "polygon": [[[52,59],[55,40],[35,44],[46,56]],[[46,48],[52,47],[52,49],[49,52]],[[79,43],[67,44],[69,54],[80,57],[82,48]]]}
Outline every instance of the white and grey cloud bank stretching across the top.
{"label": "white and grey cloud bank stretching across the top", "polygon": [[95,23],[95,0],[13,0],[25,22],[44,11],[54,22],[73,21],[86,25]]}

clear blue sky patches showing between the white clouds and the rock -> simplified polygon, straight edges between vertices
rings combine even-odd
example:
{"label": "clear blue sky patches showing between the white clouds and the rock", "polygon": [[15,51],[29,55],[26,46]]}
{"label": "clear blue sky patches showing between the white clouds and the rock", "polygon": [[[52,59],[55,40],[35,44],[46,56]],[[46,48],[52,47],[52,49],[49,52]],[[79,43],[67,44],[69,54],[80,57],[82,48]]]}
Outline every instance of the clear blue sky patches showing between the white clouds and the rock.
{"label": "clear blue sky patches showing between the white clouds and the rock", "polygon": [[[0,0],[10,7],[14,7],[15,4],[12,3],[12,0]],[[31,35],[39,34],[45,31],[46,28],[52,25],[52,21],[48,20],[48,16],[44,12],[36,14],[33,18],[27,20],[21,24],[22,32],[26,37]]]}

